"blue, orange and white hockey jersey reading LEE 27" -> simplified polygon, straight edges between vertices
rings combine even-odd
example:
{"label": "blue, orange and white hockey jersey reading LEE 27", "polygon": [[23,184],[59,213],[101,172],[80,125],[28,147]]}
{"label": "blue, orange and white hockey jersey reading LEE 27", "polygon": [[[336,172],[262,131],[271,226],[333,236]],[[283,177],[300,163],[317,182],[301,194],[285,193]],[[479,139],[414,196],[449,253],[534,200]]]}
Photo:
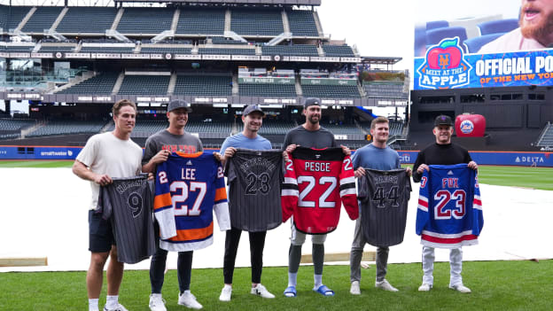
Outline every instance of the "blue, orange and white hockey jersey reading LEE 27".
{"label": "blue, orange and white hockey jersey reading LEE 27", "polygon": [[160,223],[160,247],[193,251],[213,244],[213,214],[230,229],[221,163],[212,152],[172,153],[158,165],[153,214]]}

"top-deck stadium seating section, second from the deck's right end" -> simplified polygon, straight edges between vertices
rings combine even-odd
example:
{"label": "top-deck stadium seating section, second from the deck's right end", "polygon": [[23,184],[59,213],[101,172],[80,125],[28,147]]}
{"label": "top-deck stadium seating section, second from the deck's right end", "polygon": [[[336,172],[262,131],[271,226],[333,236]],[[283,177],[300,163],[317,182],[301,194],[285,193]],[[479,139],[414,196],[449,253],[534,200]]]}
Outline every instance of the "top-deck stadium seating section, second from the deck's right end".
{"label": "top-deck stadium seating section, second from the deck's right end", "polygon": [[230,30],[238,35],[280,35],[284,33],[282,13],[277,10],[232,10]]}

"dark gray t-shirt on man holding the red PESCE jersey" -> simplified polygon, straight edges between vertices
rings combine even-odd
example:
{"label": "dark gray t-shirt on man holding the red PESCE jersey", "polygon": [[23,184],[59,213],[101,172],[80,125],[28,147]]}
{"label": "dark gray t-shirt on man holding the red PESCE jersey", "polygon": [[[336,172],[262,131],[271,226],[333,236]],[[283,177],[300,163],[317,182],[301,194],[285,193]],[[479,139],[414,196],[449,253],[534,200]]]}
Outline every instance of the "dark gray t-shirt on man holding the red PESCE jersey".
{"label": "dark gray t-shirt on man holding the red PESCE jersey", "polygon": [[311,131],[301,125],[286,133],[283,150],[290,144],[299,144],[302,147],[316,149],[339,147],[330,130],[321,127],[318,130]]}

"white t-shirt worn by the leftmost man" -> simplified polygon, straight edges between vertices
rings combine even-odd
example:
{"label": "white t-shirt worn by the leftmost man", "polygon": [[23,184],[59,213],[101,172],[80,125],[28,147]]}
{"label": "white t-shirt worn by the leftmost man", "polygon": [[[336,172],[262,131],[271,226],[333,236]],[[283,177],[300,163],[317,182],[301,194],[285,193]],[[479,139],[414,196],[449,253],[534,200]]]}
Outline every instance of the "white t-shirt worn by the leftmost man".
{"label": "white t-shirt worn by the leftmost man", "polygon": [[[132,177],[140,173],[142,148],[132,140],[121,140],[106,132],[91,136],[77,156],[77,160],[96,174],[110,177]],[[90,182],[92,198],[89,209],[97,208],[100,186]]]}

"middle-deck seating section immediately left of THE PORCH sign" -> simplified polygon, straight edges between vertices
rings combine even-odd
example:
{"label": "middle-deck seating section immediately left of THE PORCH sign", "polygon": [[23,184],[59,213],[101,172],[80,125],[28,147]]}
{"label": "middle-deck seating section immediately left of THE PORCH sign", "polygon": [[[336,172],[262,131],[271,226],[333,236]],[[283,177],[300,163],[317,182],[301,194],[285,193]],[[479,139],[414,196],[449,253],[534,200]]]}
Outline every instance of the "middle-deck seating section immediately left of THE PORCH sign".
{"label": "middle-deck seating section immediately left of THE PORCH sign", "polygon": [[212,74],[178,74],[175,95],[232,96],[232,76]]}

